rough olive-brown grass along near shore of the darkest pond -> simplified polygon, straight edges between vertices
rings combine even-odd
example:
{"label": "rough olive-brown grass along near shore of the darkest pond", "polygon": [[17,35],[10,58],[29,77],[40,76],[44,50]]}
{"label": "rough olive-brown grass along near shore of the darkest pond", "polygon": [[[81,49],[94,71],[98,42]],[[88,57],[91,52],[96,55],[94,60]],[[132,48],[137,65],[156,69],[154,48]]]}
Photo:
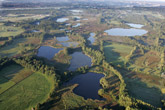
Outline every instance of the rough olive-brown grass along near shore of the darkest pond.
{"label": "rough olive-brown grass along near shore of the darkest pond", "polygon": [[105,104],[105,102],[103,101],[97,101],[97,100],[91,100],[91,99],[85,100],[83,97],[74,94],[73,89],[76,86],[77,85],[75,84],[72,86],[64,87],[61,90],[59,90],[58,92],[62,93],[61,100],[57,102],[56,104],[54,104],[56,106],[51,108],[51,110],[62,110],[62,109],[77,110],[85,106],[93,106],[97,108],[99,105],[101,106]]}

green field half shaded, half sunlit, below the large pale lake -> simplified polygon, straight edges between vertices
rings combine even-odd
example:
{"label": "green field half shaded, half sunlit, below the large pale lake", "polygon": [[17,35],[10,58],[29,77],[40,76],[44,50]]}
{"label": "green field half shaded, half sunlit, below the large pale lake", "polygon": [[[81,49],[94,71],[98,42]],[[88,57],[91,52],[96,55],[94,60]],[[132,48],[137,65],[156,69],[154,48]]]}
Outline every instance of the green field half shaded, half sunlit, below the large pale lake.
{"label": "green field half shaded, half sunlit, below the large pale lake", "polygon": [[125,57],[131,52],[133,47],[117,44],[117,43],[105,43],[104,53],[106,60],[112,62],[115,65],[123,65]]}

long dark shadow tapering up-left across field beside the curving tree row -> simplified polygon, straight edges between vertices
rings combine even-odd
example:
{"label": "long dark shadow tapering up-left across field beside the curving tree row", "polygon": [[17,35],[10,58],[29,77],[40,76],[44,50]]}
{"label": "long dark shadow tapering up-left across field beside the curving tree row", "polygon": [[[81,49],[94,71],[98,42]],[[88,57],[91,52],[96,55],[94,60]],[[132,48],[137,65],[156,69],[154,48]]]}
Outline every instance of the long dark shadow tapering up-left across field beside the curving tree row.
{"label": "long dark shadow tapering up-left across field beside the curving tree row", "polygon": [[119,68],[118,70],[125,79],[126,88],[130,96],[147,102],[155,107],[161,107],[162,93],[158,88],[149,87],[147,83],[142,82],[140,78],[136,77],[134,72]]}

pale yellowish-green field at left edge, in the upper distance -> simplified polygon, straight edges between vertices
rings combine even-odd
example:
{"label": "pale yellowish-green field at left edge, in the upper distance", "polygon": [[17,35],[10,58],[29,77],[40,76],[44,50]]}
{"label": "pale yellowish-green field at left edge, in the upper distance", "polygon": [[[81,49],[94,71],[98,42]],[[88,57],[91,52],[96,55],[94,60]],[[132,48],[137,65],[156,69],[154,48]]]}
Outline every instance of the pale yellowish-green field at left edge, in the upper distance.
{"label": "pale yellowish-green field at left edge, in the upper distance", "polygon": [[15,26],[4,26],[3,23],[0,24],[0,37],[16,36],[24,32],[20,27]]}

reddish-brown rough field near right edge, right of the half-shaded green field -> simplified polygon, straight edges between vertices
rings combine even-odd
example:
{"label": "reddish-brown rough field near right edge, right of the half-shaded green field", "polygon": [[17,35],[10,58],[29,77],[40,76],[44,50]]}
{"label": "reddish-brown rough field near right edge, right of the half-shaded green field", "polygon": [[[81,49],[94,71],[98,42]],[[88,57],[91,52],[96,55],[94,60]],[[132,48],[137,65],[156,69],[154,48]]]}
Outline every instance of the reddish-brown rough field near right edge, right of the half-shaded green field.
{"label": "reddish-brown rough field near right edge, right of the half-shaded green field", "polygon": [[156,51],[148,51],[144,54],[136,53],[133,59],[131,59],[131,65],[129,68],[141,71],[145,74],[160,75],[160,53]]}

